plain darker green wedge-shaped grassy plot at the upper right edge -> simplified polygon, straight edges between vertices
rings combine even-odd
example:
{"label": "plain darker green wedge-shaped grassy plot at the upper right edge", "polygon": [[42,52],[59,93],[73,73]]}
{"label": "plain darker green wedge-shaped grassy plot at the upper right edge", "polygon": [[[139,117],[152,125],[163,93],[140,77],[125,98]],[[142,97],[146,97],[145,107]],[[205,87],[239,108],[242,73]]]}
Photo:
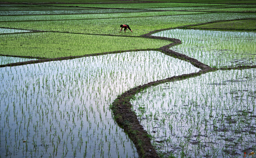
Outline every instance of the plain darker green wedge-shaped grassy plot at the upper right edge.
{"label": "plain darker green wedge-shaped grassy plot at the upper right edge", "polygon": [[256,18],[209,23],[205,25],[190,26],[190,28],[256,30]]}

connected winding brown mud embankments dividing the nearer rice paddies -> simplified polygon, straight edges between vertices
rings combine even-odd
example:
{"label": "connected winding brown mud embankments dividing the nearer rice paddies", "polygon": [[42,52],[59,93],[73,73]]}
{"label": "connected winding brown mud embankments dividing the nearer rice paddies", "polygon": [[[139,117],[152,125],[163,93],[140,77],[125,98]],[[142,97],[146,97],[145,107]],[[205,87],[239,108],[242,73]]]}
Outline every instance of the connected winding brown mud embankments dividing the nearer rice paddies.
{"label": "connected winding brown mud embankments dividing the nearer rice paddies", "polygon": [[[179,28],[181,28],[181,27],[179,27]],[[88,54],[88,55],[82,55],[82,56],[68,56],[68,57],[58,57],[58,58],[40,58],[40,57],[26,56],[26,58],[38,58],[38,59],[40,58],[40,59],[25,61],[25,62],[18,62],[18,63],[9,63],[6,65],[0,65],[0,67],[12,67],[12,66],[19,66],[19,65],[43,63],[43,62],[49,62],[49,61],[75,59],[75,58],[80,58],[80,57],[115,54],[115,53],[122,53],[122,52],[155,50],[155,51],[160,51],[166,55],[170,55],[172,57],[178,58],[180,60],[187,61],[187,62],[191,63],[192,65],[194,65],[195,67],[200,68],[201,70],[199,72],[183,74],[183,75],[179,75],[179,76],[173,76],[170,78],[149,82],[147,84],[143,84],[142,86],[140,85],[135,88],[129,89],[128,91],[124,92],[122,95],[118,96],[117,99],[115,99],[115,101],[110,106],[112,109],[115,121],[118,123],[118,125],[120,127],[122,127],[125,130],[125,132],[129,136],[129,138],[133,141],[133,143],[136,146],[139,157],[159,158],[156,150],[154,149],[154,146],[152,146],[152,144],[151,144],[150,135],[147,133],[147,131],[144,130],[143,126],[139,123],[139,120],[137,119],[135,112],[132,110],[132,105],[130,103],[130,99],[133,98],[133,96],[136,93],[138,93],[148,87],[156,86],[156,85],[163,84],[166,82],[173,82],[173,81],[177,81],[177,80],[183,80],[183,79],[187,79],[187,78],[200,76],[201,74],[205,74],[207,72],[212,72],[212,71],[217,71],[217,70],[256,68],[256,65],[253,65],[253,66],[240,66],[240,67],[233,67],[233,68],[216,69],[216,68],[212,68],[212,67],[209,67],[208,65],[201,63],[197,59],[188,57],[184,54],[174,52],[173,50],[170,50],[170,47],[177,45],[177,44],[181,44],[181,40],[167,38],[167,37],[151,36],[151,34],[153,34],[153,33],[168,30],[168,29],[174,29],[174,28],[155,30],[155,31],[151,31],[151,32],[141,35],[141,36],[125,36],[125,37],[143,37],[143,38],[161,39],[161,40],[169,40],[169,41],[173,42],[173,43],[170,43],[170,44],[163,46],[161,48],[158,48],[158,49],[140,49],[140,50],[136,49],[136,50],[125,50],[125,51],[113,51],[113,52],[103,52],[103,53],[97,53],[97,54]],[[50,31],[37,31],[37,30],[30,30],[30,31],[50,32]],[[51,32],[57,32],[57,31],[51,31]],[[65,32],[65,33],[67,33],[67,32]],[[82,33],[77,33],[77,34],[82,34]],[[96,34],[93,34],[93,35],[96,35]],[[97,34],[97,35],[100,35],[100,34]],[[116,36],[116,35],[112,35],[112,36]],[[10,55],[5,55],[5,56],[10,56]],[[15,57],[24,57],[24,56],[15,56]]]}

